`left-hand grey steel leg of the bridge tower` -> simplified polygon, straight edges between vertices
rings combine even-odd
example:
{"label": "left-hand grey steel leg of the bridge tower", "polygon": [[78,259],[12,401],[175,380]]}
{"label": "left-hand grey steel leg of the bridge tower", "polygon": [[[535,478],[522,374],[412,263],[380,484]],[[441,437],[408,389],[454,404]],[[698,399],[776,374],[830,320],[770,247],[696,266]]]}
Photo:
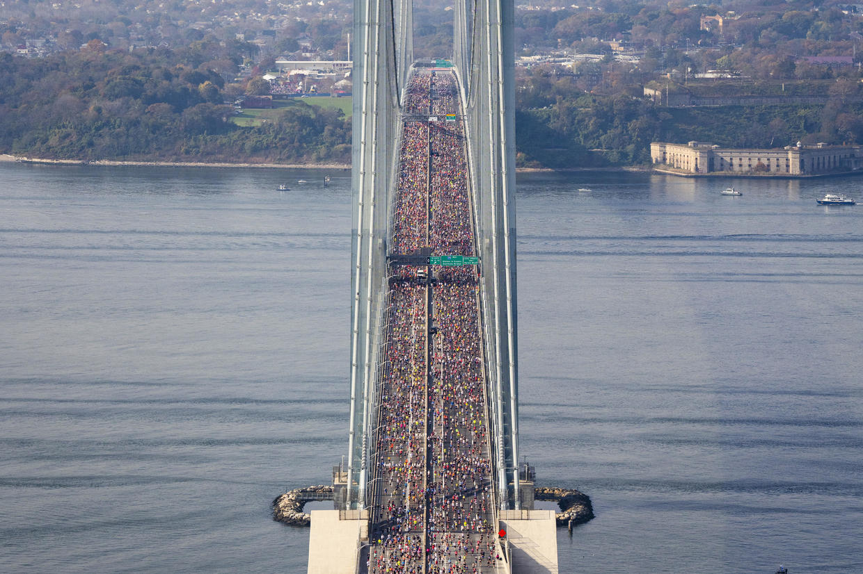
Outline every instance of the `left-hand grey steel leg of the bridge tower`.
{"label": "left-hand grey steel leg of the bridge tower", "polygon": [[365,507],[374,432],[381,311],[386,292],[387,214],[401,83],[413,59],[409,0],[354,0],[353,232],[350,434],[346,508]]}

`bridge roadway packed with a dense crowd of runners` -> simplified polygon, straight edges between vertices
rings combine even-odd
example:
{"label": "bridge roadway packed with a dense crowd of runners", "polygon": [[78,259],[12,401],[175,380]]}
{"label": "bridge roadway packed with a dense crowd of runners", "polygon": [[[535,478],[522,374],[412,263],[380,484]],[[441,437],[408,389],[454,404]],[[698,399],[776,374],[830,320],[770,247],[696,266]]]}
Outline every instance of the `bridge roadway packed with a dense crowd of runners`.
{"label": "bridge roadway packed with a dense crowd of runners", "polygon": [[[415,69],[408,81],[406,115],[438,121],[401,124],[391,253],[476,255],[457,88],[448,70]],[[456,121],[445,121],[447,114]],[[387,271],[386,368],[365,564],[373,574],[502,571],[479,272],[475,265]]]}

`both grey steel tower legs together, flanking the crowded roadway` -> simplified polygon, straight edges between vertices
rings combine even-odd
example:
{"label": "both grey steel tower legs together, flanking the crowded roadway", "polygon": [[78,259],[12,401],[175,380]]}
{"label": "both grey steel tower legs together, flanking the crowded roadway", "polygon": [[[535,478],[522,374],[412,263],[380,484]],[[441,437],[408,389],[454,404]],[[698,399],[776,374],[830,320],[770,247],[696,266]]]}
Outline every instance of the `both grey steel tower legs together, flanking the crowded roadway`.
{"label": "both grey steel tower legs together, flanking the crowded roadway", "polygon": [[[501,509],[520,508],[515,292],[512,0],[457,0],[454,64],[462,87],[482,257],[483,331]],[[402,90],[413,64],[410,0],[355,0],[350,431],[346,508],[365,508],[380,368]]]}

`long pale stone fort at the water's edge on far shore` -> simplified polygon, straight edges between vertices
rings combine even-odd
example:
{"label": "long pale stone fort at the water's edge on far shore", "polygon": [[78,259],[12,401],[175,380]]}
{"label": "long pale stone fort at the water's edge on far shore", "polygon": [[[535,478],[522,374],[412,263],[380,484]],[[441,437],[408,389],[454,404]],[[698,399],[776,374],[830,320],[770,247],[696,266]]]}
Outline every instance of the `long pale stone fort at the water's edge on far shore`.
{"label": "long pale stone fort at the water's edge on far shore", "polygon": [[814,176],[854,172],[863,168],[863,147],[816,144],[775,149],[733,149],[709,143],[654,141],[650,145],[654,169],[680,175],[737,174],[758,176]]}

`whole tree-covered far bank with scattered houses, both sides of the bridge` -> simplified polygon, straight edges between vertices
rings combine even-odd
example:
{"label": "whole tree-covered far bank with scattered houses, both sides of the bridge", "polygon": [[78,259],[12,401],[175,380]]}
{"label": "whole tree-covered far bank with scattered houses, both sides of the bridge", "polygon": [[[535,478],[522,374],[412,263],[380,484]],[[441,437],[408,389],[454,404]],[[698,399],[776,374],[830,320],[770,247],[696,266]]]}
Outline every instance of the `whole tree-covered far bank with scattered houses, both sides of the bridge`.
{"label": "whole tree-covered far bank with scattered houses, both sides of the bridge", "polygon": [[[268,94],[272,86],[262,74],[277,54],[345,58],[350,3],[109,4],[7,3],[0,47],[17,52],[28,42],[33,52],[29,42],[40,41],[47,52],[27,58],[0,53],[0,153],[350,161],[348,98],[309,97],[240,115],[225,105],[244,94]],[[726,147],[863,144],[863,15],[857,5],[558,4],[537,0],[534,9],[515,12],[517,54],[539,58],[516,71],[519,165],[646,164],[653,140]],[[705,17],[720,18],[721,27],[715,20],[704,26]],[[198,28],[180,25],[199,19]],[[445,7],[418,3],[416,22],[418,54],[451,49]],[[253,44],[253,38],[266,41]],[[268,47],[267,55],[259,46]],[[708,71],[714,79],[695,77]],[[669,94],[690,103],[764,98],[750,105],[666,107],[661,98],[647,99],[645,87],[664,91],[665,103]],[[797,101],[777,101],[790,96]]]}

